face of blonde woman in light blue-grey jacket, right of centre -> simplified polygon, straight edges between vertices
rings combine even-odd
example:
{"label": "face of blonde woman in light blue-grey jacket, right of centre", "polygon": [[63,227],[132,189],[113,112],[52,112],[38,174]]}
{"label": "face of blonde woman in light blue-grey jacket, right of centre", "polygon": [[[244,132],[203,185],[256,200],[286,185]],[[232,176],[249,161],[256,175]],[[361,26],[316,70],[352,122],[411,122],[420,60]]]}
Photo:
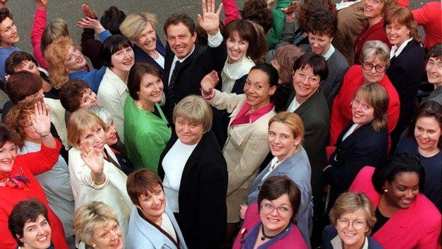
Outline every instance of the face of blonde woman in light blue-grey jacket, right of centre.
{"label": "face of blonde woman in light blue-grey jacket, right of centre", "polygon": [[295,138],[293,131],[285,123],[274,121],[268,127],[267,143],[272,155],[281,162],[296,152],[301,138]]}

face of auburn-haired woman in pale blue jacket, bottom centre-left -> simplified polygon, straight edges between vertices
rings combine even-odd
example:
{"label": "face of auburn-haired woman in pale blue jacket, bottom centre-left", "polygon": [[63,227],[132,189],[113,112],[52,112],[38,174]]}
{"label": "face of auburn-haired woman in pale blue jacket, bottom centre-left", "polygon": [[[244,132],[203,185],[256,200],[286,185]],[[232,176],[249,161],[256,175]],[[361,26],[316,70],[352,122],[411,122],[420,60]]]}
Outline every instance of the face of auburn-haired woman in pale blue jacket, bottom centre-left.
{"label": "face of auburn-haired woman in pale blue jacket, bottom centre-left", "polygon": [[147,191],[138,197],[140,205],[136,205],[149,221],[157,221],[166,209],[166,197],[161,186],[154,187],[153,191]]}

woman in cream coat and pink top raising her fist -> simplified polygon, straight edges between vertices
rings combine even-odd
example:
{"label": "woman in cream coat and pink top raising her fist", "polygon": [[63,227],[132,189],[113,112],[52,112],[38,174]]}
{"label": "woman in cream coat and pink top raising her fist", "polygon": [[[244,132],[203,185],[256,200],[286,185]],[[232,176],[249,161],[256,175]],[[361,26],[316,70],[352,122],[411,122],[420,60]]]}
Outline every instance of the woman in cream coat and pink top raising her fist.
{"label": "woman in cream coat and pink top raising her fist", "polygon": [[266,63],[252,67],[244,94],[239,95],[217,91],[217,82],[217,73],[212,71],[201,81],[201,89],[210,105],[231,113],[222,154],[229,173],[226,238],[232,238],[235,223],[239,222],[239,206],[246,202],[259,165],[269,151],[268,121],[276,114],[271,96],[278,85],[278,71]]}

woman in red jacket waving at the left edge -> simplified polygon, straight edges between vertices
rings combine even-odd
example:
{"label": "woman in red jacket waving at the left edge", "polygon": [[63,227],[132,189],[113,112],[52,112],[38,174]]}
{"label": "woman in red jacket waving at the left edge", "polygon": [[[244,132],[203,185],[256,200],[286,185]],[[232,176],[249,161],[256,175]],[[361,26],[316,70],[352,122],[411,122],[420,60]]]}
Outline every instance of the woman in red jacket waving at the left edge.
{"label": "woman in red jacket waving at the left edge", "polygon": [[67,248],[60,219],[47,204],[45,192],[34,175],[50,170],[58,160],[61,143],[50,133],[50,113],[42,102],[35,104],[31,118],[32,127],[40,135],[42,148],[37,153],[18,155],[16,133],[0,125],[0,248],[15,249],[17,242],[8,233],[8,216],[14,204],[30,198],[36,198],[45,204],[49,223],[52,227],[52,243],[55,248]]}

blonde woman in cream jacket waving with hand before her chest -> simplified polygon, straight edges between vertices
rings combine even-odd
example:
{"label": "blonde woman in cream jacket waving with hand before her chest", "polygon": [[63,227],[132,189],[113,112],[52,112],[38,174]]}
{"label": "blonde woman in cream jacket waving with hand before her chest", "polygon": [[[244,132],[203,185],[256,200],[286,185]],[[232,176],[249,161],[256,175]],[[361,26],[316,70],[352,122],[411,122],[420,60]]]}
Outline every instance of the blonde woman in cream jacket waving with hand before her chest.
{"label": "blonde woman in cream jacket waving with hand before her chest", "polygon": [[128,228],[132,202],[126,192],[128,177],[106,145],[106,126],[87,109],[78,109],[67,122],[69,175],[75,209],[88,201],[103,201],[117,214],[123,234]]}

